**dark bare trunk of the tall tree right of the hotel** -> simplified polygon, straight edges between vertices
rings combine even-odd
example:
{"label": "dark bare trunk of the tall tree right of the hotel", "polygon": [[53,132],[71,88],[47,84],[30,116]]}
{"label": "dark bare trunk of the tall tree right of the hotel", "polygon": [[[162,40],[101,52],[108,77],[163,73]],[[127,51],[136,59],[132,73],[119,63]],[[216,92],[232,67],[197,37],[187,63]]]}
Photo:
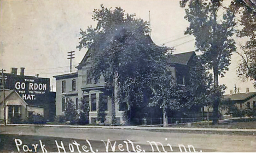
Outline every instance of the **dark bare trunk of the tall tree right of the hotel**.
{"label": "dark bare trunk of the tall tree right of the hotel", "polygon": [[218,69],[216,67],[213,68],[213,76],[214,76],[214,100],[213,100],[213,125],[217,124],[219,121],[219,102],[220,102],[220,95],[219,95],[219,74]]}

